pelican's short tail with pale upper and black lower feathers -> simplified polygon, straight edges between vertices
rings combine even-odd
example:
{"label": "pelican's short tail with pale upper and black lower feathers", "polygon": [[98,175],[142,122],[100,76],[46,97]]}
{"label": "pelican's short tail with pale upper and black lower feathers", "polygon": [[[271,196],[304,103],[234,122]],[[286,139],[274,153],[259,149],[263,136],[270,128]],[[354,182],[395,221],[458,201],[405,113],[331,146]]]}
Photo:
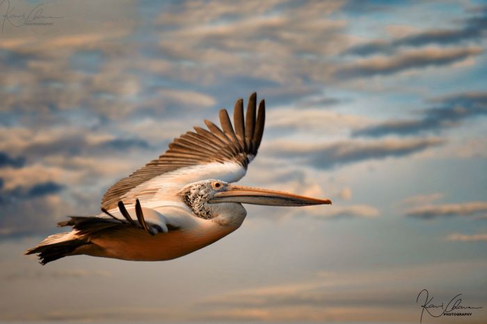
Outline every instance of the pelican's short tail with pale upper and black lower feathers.
{"label": "pelican's short tail with pale upper and black lower feathers", "polygon": [[38,254],[39,263],[42,265],[48,262],[66,257],[81,245],[91,244],[88,241],[72,238],[69,233],[60,233],[48,236],[34,248],[25,254]]}

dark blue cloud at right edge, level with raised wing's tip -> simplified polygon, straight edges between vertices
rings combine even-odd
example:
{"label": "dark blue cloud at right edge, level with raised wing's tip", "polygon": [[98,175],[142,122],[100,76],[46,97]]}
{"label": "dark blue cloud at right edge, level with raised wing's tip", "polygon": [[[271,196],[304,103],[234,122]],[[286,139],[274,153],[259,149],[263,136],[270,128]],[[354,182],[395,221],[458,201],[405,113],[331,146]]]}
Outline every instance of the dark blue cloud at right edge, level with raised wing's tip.
{"label": "dark blue cloud at right edge, level with raised wing's tip", "polygon": [[389,134],[412,135],[456,127],[463,120],[487,115],[487,92],[468,92],[434,100],[438,105],[425,109],[411,120],[390,120],[353,131],[353,136],[379,137]]}

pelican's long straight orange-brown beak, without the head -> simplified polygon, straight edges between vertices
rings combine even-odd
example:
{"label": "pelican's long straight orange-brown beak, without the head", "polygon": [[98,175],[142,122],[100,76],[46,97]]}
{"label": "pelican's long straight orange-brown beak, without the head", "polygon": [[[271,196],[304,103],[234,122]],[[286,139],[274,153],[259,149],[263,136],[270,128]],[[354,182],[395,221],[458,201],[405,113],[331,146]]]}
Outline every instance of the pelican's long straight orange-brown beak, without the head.
{"label": "pelican's long straight orange-brown beak, without the head", "polygon": [[329,199],[316,199],[260,188],[228,185],[227,191],[215,193],[210,204],[218,202],[240,202],[242,204],[262,204],[267,206],[310,206],[314,204],[331,204]]}

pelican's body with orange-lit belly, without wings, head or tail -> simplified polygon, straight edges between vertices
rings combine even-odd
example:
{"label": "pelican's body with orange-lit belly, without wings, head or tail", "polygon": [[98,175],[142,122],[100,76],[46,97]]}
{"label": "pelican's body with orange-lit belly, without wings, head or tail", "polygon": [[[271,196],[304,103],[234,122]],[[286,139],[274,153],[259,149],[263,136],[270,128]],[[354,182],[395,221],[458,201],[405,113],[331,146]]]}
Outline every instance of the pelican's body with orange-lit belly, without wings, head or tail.
{"label": "pelican's body with orange-lit belly, without wings, head or tail", "polygon": [[[241,204],[227,203],[227,205],[227,211],[223,211],[221,215],[209,220],[195,217],[185,206],[162,208],[159,209],[161,213],[154,209],[143,209],[144,215],[152,212],[152,215],[158,217],[159,220],[177,224],[184,230],[171,230],[164,234],[151,236],[138,228],[129,227],[121,233],[112,231],[93,238],[91,240],[93,244],[83,245],[77,252],[93,257],[131,261],[163,261],[182,257],[200,248],[205,248],[240,227],[246,217],[246,210]],[[130,212],[131,209],[127,209],[127,211]],[[147,216],[145,219],[147,220]],[[123,236],[123,240],[120,240],[120,236]]]}

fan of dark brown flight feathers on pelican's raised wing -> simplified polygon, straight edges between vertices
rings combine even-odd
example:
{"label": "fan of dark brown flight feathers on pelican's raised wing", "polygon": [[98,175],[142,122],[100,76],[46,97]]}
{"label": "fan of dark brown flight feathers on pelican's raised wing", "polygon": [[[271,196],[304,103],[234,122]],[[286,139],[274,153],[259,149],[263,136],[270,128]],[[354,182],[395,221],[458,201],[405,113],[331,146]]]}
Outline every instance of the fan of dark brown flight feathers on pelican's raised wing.
{"label": "fan of dark brown flight feathers on pelican's raised wing", "polygon": [[102,208],[111,210],[117,207],[123,195],[145,181],[166,172],[193,165],[207,163],[225,163],[232,161],[247,168],[249,161],[257,154],[264,131],[265,103],[259,104],[257,120],[257,94],[250,95],[246,118],[244,120],[243,100],[235,103],[234,126],[225,109],[220,111],[221,129],[216,124],[205,120],[207,129],[194,127],[169,144],[168,150],[158,159],[147,163],[129,177],[117,181],[102,198]]}

